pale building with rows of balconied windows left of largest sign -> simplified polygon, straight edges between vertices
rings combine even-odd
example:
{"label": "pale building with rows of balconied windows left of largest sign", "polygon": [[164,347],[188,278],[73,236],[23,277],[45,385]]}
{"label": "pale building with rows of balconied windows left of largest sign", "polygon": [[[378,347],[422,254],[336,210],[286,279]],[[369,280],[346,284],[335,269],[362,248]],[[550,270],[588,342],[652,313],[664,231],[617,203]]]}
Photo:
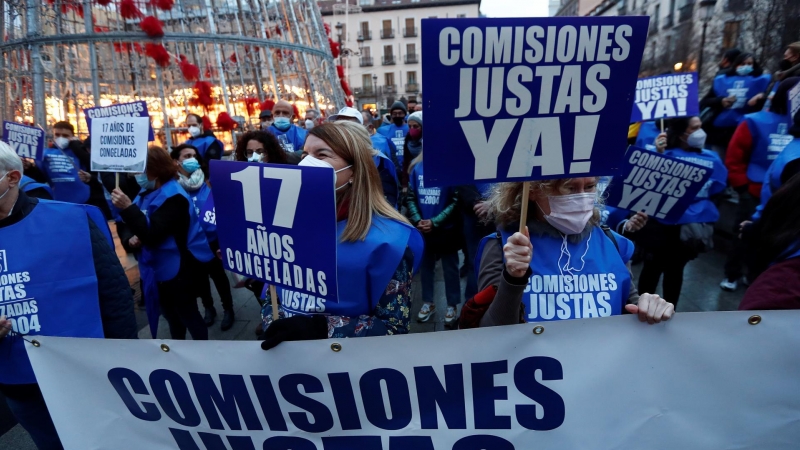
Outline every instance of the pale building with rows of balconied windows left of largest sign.
{"label": "pale building with rows of balconied windows left of largest sign", "polygon": [[421,20],[476,18],[481,0],[320,0],[360,110],[422,99]]}

